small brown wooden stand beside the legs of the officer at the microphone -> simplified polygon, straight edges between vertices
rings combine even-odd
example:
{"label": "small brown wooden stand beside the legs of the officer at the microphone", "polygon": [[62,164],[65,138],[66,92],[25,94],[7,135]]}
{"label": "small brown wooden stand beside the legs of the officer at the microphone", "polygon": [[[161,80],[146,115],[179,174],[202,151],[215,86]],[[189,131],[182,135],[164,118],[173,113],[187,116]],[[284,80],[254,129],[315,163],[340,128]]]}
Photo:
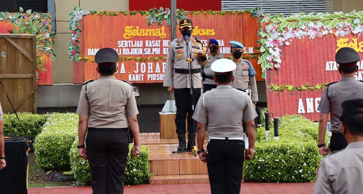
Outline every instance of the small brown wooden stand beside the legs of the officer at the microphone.
{"label": "small brown wooden stand beside the legs of the officer at the microphone", "polygon": [[[177,127],[175,126],[176,113],[159,113],[160,120],[160,139],[178,138],[176,133]],[[186,123],[186,120],[185,120]],[[186,131],[188,126],[186,124]],[[187,136],[187,133],[185,133]]]}

